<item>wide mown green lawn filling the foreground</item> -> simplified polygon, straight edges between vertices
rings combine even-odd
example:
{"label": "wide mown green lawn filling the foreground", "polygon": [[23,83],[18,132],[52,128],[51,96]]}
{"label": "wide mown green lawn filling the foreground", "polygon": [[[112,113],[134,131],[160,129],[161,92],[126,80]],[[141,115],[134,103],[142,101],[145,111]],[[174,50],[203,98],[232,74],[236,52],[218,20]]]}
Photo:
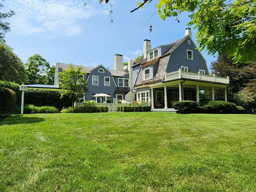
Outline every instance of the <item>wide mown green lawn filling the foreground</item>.
{"label": "wide mown green lawn filling the foreground", "polygon": [[256,116],[34,114],[0,122],[0,191],[255,191]]}

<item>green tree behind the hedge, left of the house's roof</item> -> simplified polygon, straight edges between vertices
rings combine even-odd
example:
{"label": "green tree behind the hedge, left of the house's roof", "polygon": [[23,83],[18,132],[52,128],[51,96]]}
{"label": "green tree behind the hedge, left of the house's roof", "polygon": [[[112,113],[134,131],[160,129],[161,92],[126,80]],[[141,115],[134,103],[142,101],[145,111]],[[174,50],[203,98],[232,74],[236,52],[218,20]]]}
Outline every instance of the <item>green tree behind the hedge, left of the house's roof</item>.
{"label": "green tree behind the hedge, left of the house's roof", "polygon": [[50,69],[50,63],[41,55],[34,54],[28,58],[25,63],[27,71],[27,84],[47,84],[47,71]]}

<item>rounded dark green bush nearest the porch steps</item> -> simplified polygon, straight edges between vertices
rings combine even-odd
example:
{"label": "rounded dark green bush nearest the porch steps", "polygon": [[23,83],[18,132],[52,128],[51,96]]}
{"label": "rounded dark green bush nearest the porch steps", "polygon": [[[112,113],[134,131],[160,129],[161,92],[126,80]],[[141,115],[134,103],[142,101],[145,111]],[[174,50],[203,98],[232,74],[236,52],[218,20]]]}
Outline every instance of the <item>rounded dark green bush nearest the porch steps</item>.
{"label": "rounded dark green bush nearest the porch steps", "polygon": [[199,113],[201,111],[199,103],[196,101],[176,101],[172,107],[177,110],[177,113],[181,114]]}

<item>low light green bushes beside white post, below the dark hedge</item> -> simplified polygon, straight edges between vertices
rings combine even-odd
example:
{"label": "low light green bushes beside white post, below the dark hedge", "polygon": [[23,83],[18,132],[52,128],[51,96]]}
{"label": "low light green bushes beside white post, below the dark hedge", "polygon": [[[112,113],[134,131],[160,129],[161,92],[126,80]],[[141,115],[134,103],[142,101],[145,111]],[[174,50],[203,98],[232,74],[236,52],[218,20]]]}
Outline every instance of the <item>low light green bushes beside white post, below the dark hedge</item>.
{"label": "low light green bushes beside white post, below the dark hedge", "polygon": [[43,114],[43,113],[59,113],[56,107],[52,106],[41,106],[36,107],[34,105],[25,105],[24,114]]}

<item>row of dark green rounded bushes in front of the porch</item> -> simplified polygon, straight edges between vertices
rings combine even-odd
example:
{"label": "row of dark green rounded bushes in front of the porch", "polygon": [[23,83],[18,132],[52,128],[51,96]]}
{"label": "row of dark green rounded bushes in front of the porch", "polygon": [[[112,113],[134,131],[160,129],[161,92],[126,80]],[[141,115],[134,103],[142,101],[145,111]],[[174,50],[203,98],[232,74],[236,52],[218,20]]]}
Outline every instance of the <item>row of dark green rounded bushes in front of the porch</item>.
{"label": "row of dark green rounded bushes in front of the porch", "polygon": [[211,113],[211,114],[243,114],[245,109],[236,106],[235,103],[227,101],[210,101],[207,105],[199,106],[196,101],[177,101],[173,103],[173,108],[177,113]]}

